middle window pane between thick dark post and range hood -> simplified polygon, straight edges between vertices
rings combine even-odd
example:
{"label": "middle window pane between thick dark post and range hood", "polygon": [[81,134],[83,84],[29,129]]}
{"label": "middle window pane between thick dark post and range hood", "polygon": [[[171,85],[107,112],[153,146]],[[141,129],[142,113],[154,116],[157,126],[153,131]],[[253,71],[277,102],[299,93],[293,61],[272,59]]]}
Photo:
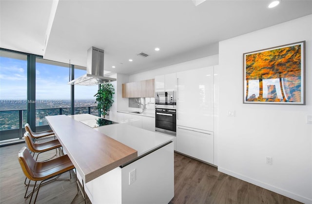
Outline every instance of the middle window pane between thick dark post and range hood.
{"label": "middle window pane between thick dark post and range hood", "polygon": [[69,65],[36,59],[36,127],[48,125],[45,116],[70,115]]}

